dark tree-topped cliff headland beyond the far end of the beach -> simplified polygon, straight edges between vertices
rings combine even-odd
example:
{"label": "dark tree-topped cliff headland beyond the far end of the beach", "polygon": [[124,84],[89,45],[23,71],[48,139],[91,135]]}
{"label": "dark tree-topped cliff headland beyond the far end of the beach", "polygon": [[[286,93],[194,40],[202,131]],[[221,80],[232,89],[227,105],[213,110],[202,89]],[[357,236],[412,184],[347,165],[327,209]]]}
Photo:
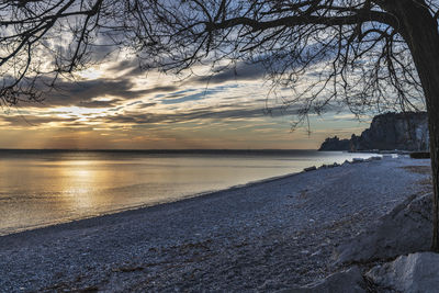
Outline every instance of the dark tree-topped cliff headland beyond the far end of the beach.
{"label": "dark tree-topped cliff headland beyond the far end of the beach", "polygon": [[[334,137],[337,138],[338,137]],[[373,117],[370,127],[360,136],[352,134],[344,148],[339,142],[327,138],[319,150],[427,150],[428,122],[426,112],[386,113]],[[333,144],[334,143],[334,144]]]}

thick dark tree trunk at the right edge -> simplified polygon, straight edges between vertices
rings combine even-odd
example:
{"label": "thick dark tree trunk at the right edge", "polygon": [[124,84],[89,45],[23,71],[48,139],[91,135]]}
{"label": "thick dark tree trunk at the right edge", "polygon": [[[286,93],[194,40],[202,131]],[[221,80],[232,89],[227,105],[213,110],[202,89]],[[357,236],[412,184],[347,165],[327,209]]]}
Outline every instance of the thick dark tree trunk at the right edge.
{"label": "thick dark tree trunk at the right edge", "polygon": [[439,33],[438,23],[419,2],[391,1],[393,11],[401,21],[399,32],[412,52],[428,112],[430,133],[430,157],[432,170],[432,243],[431,249],[439,251]]}

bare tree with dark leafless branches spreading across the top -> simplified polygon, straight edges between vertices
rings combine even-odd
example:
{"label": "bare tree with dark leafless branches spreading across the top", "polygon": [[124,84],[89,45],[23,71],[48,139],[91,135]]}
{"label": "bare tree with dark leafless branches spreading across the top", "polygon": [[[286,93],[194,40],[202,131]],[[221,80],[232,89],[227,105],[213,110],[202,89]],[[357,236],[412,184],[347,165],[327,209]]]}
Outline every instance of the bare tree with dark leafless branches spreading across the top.
{"label": "bare tree with dark leafless branches spreading across the top", "polygon": [[432,249],[439,251],[439,3],[426,0],[14,0],[0,3],[1,101],[38,100],[42,84],[130,48],[145,68],[215,70],[260,63],[302,117],[353,113],[429,117]]}

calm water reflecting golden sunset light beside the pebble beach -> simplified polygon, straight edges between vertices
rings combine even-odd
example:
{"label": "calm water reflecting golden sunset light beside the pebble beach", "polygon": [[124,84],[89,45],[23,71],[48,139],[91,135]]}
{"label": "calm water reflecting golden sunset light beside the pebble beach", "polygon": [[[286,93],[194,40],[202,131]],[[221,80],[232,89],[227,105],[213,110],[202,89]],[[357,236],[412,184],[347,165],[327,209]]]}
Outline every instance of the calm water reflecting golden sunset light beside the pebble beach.
{"label": "calm water reflecting golden sunset light beside the pebble beach", "polygon": [[0,235],[175,201],[368,154],[0,151]]}

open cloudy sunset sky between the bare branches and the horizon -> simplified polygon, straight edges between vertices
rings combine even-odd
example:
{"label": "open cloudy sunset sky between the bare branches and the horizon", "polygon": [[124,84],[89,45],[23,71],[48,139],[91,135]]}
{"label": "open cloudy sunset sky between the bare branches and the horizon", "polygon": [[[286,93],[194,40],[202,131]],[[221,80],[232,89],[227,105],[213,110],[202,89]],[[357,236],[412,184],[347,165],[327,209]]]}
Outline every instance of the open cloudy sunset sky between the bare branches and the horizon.
{"label": "open cloudy sunset sky between the bare branches and the horizon", "polygon": [[110,58],[58,80],[42,103],[3,108],[0,148],[316,149],[370,122],[338,110],[312,114],[309,128],[292,129],[294,110],[270,95],[262,68],[194,71],[182,79]]}

